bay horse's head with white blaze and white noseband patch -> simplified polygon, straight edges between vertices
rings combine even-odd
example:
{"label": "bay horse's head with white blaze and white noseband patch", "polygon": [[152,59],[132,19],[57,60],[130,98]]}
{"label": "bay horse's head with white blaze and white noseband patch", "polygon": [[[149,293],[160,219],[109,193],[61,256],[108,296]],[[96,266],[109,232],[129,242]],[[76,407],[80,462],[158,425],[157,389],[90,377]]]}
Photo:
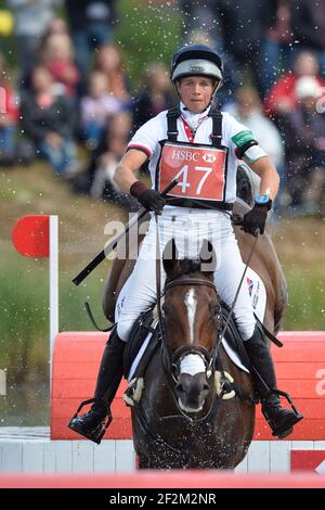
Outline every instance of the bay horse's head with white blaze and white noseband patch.
{"label": "bay horse's head with white blaze and white noseband patch", "polygon": [[213,391],[214,346],[221,306],[213,283],[216,253],[204,241],[199,259],[182,259],[173,240],[165,247],[165,336],[180,409],[197,413]]}

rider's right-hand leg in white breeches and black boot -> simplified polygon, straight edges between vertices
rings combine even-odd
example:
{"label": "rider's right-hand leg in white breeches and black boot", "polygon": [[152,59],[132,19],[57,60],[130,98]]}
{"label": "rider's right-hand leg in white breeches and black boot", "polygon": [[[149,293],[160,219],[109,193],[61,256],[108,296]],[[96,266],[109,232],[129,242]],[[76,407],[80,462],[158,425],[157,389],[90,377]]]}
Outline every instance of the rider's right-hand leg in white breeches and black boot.
{"label": "rider's right-hand leg in white breeches and black boot", "polygon": [[[234,235],[227,235],[226,242],[222,245],[221,260],[214,276],[214,282],[221,298],[229,306],[234,301],[244,269],[245,265],[237,242]],[[251,370],[255,387],[262,403],[263,415],[272,429],[273,435],[285,437],[291,432],[292,425],[302,417],[291,410],[282,408],[278,395],[270,394],[270,390],[277,387],[274,366],[264,333],[256,328],[245,279],[234,307],[234,317],[249,360],[264,381],[263,384],[258,373],[253,369]]]}

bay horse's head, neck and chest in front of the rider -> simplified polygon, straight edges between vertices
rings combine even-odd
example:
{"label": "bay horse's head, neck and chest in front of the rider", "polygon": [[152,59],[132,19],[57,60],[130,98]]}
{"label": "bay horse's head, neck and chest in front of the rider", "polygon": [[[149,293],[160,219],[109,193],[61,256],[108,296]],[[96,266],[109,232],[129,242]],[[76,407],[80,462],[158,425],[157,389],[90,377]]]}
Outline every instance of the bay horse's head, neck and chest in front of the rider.
{"label": "bay horse's head, neck and chest in front of the rider", "polygon": [[[220,342],[221,303],[213,268],[204,272],[202,260],[179,260],[170,243],[164,252],[167,279],[160,347],[145,371],[141,400],[132,408],[139,468],[233,469],[251,442],[255,405],[238,397],[219,398],[214,347]],[[174,256],[166,258],[166,252]],[[191,323],[187,315],[193,306]],[[224,372],[253,395],[250,377],[221,347],[220,360]]]}

